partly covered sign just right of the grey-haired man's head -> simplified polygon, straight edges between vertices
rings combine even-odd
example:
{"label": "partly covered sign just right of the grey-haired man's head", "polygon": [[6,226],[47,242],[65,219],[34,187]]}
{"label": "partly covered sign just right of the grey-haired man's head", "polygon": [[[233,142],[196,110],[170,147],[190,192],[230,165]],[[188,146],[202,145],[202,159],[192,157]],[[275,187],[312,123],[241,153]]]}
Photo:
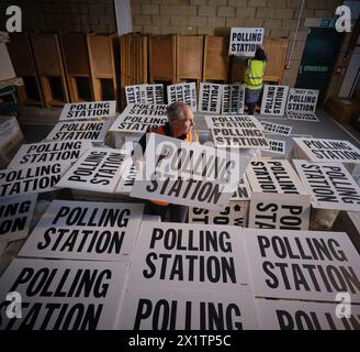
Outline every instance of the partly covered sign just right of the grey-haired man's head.
{"label": "partly covered sign just right of the grey-haired man's head", "polygon": [[240,129],[260,129],[262,125],[257,118],[248,114],[238,116],[205,116],[209,129],[212,128],[240,128]]}

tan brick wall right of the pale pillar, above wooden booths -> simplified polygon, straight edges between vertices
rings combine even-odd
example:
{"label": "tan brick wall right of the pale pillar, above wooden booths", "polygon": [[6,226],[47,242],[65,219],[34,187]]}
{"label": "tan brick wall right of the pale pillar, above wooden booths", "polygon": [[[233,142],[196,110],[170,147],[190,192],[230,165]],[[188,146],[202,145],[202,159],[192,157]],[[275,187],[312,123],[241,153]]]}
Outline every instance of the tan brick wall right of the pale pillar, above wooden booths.
{"label": "tan brick wall right of the pale pillar, above wooden booths", "polygon": [[[154,34],[224,33],[224,28],[263,26],[266,36],[293,38],[301,0],[131,0],[133,31]],[[306,0],[283,85],[294,86],[305,47],[306,18],[333,18],[341,0]],[[347,41],[349,35],[347,36]],[[290,42],[291,45],[291,42]],[[346,43],[342,45],[342,53]],[[340,58],[341,58],[340,55]],[[337,95],[342,78],[331,80],[328,94]]]}

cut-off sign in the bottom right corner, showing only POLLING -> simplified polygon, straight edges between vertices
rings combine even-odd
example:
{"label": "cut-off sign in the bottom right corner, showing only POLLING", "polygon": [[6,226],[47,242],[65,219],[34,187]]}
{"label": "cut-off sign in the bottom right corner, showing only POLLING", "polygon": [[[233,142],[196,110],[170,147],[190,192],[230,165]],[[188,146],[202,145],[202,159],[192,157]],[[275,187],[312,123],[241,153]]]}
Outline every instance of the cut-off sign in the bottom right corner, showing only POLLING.
{"label": "cut-off sign in the bottom right corner, showing only POLLING", "polygon": [[347,293],[335,298],[333,304],[256,299],[260,329],[359,330],[360,306],[347,302]]}

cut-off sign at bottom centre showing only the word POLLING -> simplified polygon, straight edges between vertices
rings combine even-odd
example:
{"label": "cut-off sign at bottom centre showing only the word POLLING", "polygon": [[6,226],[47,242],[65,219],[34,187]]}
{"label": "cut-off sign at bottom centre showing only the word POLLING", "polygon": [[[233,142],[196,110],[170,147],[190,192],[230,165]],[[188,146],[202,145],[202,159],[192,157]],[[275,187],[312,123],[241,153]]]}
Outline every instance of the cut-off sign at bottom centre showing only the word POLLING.
{"label": "cut-off sign at bottom centre showing only the word POLLING", "polygon": [[254,330],[250,293],[128,288],[119,330]]}

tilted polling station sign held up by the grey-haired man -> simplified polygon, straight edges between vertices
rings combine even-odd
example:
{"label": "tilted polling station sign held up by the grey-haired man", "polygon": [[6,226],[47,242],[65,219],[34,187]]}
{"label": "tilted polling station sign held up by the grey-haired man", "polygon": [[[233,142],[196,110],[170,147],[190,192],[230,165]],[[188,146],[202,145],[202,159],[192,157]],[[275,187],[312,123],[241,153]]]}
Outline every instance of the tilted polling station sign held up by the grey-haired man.
{"label": "tilted polling station sign held up by the grey-haired man", "polygon": [[223,210],[249,163],[238,152],[151,133],[131,197]]}

